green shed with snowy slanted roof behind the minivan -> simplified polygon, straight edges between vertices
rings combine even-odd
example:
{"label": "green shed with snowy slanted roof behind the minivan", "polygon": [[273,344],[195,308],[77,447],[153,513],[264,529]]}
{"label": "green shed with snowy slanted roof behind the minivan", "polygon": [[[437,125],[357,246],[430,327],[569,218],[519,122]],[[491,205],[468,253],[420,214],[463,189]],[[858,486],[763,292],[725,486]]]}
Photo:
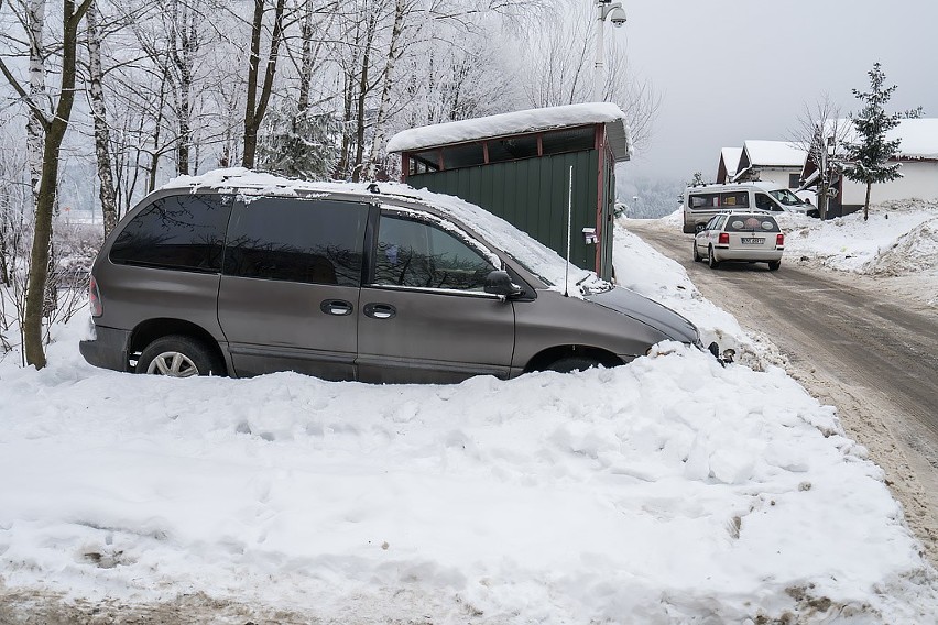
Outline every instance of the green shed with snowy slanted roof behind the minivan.
{"label": "green shed with snowy slanted roof behind the minivan", "polygon": [[405,130],[388,142],[413,187],[477,204],[561,256],[612,277],[615,163],[632,155],[625,114],[611,103],[568,105]]}

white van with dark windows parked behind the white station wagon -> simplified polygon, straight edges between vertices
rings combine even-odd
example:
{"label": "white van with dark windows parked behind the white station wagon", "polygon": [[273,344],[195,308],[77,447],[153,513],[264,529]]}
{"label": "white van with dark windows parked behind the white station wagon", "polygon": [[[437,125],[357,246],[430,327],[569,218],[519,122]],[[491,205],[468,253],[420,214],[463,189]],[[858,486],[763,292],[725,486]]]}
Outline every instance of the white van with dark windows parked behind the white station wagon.
{"label": "white van with dark windows parked behind the white station wagon", "polygon": [[765,210],[806,213],[814,207],[792,189],[775,183],[697,185],[684,191],[684,232],[692,234],[724,210]]}

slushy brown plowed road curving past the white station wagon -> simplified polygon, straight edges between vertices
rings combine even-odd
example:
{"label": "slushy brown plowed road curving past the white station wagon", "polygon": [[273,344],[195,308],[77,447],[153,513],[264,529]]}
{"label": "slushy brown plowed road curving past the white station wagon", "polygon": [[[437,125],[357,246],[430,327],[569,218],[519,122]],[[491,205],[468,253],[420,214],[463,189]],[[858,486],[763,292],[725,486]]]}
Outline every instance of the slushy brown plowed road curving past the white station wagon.
{"label": "slushy brown plowed road curving past the white station wagon", "polygon": [[844,428],[886,470],[909,525],[938,556],[938,312],[886,293],[887,283],[763,263],[711,270],[691,259],[692,237],[657,221],[629,230],[679,262],[701,294],[766,336],[789,373],[838,407]]}

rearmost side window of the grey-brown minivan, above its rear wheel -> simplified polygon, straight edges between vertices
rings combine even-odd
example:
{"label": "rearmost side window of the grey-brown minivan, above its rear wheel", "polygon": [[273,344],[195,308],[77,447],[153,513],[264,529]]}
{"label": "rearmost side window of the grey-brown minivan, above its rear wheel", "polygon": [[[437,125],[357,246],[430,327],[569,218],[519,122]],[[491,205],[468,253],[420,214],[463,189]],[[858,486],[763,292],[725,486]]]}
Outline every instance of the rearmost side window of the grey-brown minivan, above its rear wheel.
{"label": "rearmost side window of the grey-brown minivan, above its rear wheel", "polygon": [[160,198],[121,230],[109,257],[119,265],[218,273],[231,205],[225,195]]}

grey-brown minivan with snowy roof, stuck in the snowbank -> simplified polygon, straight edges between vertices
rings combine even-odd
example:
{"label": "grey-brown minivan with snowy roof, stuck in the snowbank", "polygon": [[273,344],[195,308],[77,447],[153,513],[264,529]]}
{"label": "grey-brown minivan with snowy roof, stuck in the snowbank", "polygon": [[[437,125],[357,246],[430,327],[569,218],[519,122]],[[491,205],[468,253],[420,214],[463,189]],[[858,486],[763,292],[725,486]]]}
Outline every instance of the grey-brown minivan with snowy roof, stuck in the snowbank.
{"label": "grey-brown minivan with snowy roof, stuck in the snowbank", "polygon": [[90,292],[85,359],[174,376],[447,383],[700,347],[680,315],[458,198],[247,169],[148,196],[105,242]]}

